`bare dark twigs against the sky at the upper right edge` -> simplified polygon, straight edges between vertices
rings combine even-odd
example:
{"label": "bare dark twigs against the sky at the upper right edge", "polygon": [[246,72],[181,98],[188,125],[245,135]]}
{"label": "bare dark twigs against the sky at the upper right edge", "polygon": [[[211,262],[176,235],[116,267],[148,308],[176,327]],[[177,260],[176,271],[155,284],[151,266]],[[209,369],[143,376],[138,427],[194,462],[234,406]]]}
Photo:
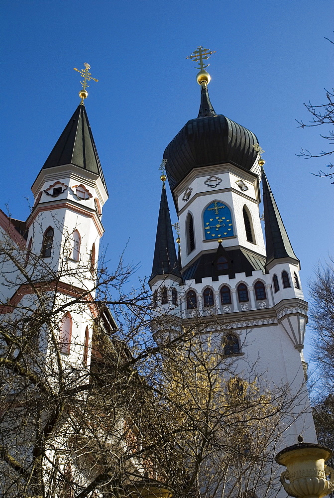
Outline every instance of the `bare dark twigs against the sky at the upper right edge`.
{"label": "bare dark twigs against the sky at the upper right edge", "polygon": [[[330,43],[333,43],[332,40],[329,38],[325,38],[328,40]],[[334,43],[333,43],[334,44]],[[303,121],[297,121],[297,123],[300,125],[299,127],[305,128],[305,127],[310,127],[310,126],[322,126],[322,125],[329,125],[330,129],[326,134],[320,134],[322,138],[325,138],[325,140],[329,141],[330,145],[330,150],[322,150],[320,153],[316,154],[314,152],[310,152],[308,149],[303,149],[301,147],[302,151],[300,154],[297,154],[298,157],[304,157],[304,159],[311,159],[313,157],[330,157],[334,153],[333,150],[333,145],[334,145],[334,89],[332,91],[326,90],[326,102],[325,104],[321,104],[319,106],[314,106],[309,102],[308,104],[304,103],[304,106],[308,110],[309,113],[311,113],[312,119],[308,124],[305,124]],[[318,173],[312,173],[315,176],[320,176],[321,178],[330,178],[331,180],[334,179],[334,173],[332,171],[332,168],[334,167],[333,162],[329,162],[326,164],[328,168],[330,168],[329,172],[325,172],[323,170],[319,170]]]}

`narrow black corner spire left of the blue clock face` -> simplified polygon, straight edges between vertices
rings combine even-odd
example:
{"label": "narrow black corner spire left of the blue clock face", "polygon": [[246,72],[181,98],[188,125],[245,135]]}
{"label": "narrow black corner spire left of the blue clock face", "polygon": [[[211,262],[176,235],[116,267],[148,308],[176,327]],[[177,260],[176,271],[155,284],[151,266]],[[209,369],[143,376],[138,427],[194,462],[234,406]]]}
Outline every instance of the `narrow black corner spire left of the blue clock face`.
{"label": "narrow black corner spire left of the blue clock face", "polygon": [[172,224],[169,216],[166,188],[165,183],[163,183],[158,228],[155,239],[153,267],[149,282],[157,275],[167,277],[168,274],[174,275],[181,279],[173,238]]}

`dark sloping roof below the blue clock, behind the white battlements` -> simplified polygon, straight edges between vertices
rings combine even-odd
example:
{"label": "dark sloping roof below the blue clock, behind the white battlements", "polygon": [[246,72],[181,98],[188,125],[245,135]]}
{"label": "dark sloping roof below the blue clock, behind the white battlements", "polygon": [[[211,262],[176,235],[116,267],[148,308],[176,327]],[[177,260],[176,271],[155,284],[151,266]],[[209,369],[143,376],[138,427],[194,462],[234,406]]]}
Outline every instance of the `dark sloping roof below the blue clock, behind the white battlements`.
{"label": "dark sloping roof below the blue clock, behind the white battlements", "polygon": [[[218,270],[217,260],[219,256],[225,256],[228,261],[228,269]],[[201,283],[202,278],[210,277],[213,281],[218,280],[219,275],[228,275],[228,278],[235,278],[236,273],[245,273],[251,276],[253,271],[262,270],[264,273],[265,258],[257,254],[251,254],[243,249],[226,250],[223,246],[217,252],[205,252],[201,254],[183,273],[182,279],[195,279],[196,283]]]}

